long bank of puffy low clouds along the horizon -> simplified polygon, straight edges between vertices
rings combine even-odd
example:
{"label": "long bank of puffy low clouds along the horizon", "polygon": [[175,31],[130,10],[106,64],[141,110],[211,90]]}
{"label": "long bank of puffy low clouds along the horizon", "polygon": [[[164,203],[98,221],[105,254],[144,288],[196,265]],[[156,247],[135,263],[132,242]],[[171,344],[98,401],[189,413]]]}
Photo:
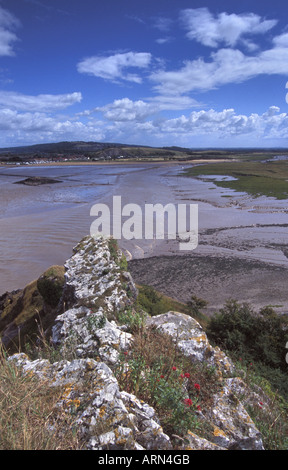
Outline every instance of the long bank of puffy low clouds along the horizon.
{"label": "long bank of puffy low clouds along the horizon", "polygon": [[153,107],[142,101],[116,100],[101,110],[104,120],[91,118],[85,123],[79,117],[0,109],[2,142],[8,146],[17,141],[100,140],[193,147],[195,142],[200,146],[259,146],[267,139],[281,145],[288,138],[288,114],[277,106],[263,114],[237,114],[232,108],[202,109],[176,118],[151,116],[149,120],[145,118]]}

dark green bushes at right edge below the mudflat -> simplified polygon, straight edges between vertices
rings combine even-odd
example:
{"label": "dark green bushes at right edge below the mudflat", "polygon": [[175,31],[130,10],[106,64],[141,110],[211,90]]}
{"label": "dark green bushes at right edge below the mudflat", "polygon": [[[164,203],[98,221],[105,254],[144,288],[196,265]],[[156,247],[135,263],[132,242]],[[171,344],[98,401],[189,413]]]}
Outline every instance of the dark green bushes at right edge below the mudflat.
{"label": "dark green bushes at right edge below the mudflat", "polygon": [[230,300],[211,318],[206,332],[232,360],[253,365],[255,373],[288,399],[287,316],[276,314],[271,307],[257,313],[248,304]]}

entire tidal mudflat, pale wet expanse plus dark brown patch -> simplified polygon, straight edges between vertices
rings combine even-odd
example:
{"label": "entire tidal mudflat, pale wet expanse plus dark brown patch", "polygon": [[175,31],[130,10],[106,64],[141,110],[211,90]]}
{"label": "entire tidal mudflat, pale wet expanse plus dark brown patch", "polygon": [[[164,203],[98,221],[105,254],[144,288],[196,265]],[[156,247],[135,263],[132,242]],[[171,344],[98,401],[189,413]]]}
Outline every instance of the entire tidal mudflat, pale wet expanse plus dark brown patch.
{"label": "entire tidal mudflat, pale wet expanse plus dark brown patch", "polygon": [[[52,264],[63,264],[89,234],[95,203],[198,204],[198,247],[177,240],[120,240],[138,283],[213,312],[227,298],[288,312],[288,200],[221,188],[180,176],[189,165],[141,163],[0,168],[0,294],[22,288]],[[30,177],[57,184],[13,184]],[[287,299],[287,300],[286,300]]]}

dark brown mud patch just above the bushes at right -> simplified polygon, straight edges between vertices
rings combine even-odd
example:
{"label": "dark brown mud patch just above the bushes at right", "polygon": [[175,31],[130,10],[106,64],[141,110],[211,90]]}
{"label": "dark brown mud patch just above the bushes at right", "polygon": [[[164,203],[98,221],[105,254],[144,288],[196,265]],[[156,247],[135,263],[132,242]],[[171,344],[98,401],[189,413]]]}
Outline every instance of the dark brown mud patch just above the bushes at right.
{"label": "dark brown mud patch just above the bushes at right", "polygon": [[207,315],[219,311],[229,299],[247,302],[256,311],[271,305],[288,313],[285,285],[288,269],[251,259],[223,256],[172,255],[137,259],[129,270],[139,284],[186,303],[192,295],[206,300]]}

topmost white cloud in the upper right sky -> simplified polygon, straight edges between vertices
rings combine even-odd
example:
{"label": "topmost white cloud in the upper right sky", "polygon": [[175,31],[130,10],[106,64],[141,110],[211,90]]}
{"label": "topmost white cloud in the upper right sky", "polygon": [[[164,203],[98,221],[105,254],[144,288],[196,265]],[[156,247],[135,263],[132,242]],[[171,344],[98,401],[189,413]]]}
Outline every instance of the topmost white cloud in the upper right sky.
{"label": "topmost white cloud in the upper right sky", "polygon": [[277,24],[277,20],[265,20],[254,13],[213,15],[208,8],[182,10],[180,20],[189,39],[209,47],[233,47],[244,36],[264,34]]}

